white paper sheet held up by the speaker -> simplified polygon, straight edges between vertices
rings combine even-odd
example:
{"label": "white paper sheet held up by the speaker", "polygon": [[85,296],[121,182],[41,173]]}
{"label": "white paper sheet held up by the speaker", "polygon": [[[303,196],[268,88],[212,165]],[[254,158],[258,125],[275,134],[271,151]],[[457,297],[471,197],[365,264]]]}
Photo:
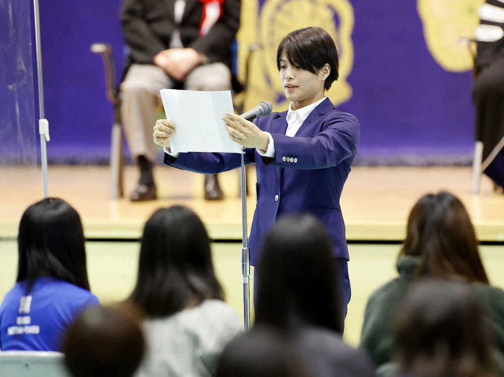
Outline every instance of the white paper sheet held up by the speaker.
{"label": "white paper sheet held up by the speaker", "polygon": [[166,118],[175,123],[170,149],[178,152],[241,153],[229,138],[221,116],[233,112],[231,91],[161,89]]}

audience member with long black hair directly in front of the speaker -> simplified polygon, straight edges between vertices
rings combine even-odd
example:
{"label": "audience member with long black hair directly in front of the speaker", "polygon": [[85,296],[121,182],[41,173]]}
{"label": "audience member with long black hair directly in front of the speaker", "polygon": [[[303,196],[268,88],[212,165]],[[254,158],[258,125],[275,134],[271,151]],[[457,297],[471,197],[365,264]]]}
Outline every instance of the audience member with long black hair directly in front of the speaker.
{"label": "audience member with long black hair directly in front of the speaker", "polygon": [[256,322],[288,338],[310,375],[374,376],[367,355],[347,345],[332,241],[313,215],[285,215],[265,238]]}

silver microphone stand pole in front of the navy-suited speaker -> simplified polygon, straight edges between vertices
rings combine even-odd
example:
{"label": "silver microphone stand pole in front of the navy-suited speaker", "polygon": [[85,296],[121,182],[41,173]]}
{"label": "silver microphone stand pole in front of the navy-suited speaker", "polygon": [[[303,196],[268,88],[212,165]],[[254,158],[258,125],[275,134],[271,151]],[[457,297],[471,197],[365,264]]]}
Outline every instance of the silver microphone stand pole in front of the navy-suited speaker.
{"label": "silver microphone stand pole in front of the navy-suited speaker", "polygon": [[250,329],[250,260],[247,238],[247,195],[245,174],[245,147],[241,147],[241,224],[243,244],[241,248],[241,276],[243,279],[243,327]]}

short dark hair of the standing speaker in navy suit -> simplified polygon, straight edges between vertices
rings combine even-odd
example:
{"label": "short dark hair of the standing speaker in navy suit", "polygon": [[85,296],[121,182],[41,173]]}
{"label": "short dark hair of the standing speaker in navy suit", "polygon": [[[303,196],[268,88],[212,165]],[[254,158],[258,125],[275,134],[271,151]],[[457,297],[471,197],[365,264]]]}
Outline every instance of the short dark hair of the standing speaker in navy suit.
{"label": "short dark hair of the standing speaker in navy suit", "polygon": [[277,68],[279,70],[280,57],[284,51],[290,64],[311,73],[317,73],[325,64],[329,64],[331,72],[324,84],[326,90],[331,88],[334,81],[338,80],[338,51],[333,38],[324,29],[309,27],[287,34],[277,49]]}

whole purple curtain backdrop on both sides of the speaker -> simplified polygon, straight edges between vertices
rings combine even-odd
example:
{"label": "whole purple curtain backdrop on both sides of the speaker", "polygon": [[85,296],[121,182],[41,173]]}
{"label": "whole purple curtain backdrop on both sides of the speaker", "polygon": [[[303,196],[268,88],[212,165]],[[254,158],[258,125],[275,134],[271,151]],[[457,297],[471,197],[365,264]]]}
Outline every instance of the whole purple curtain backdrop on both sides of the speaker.
{"label": "whole purple curtain backdrop on both sides of the speaker", "polygon": [[[40,3],[51,162],[107,162],[112,108],[94,42],[113,47],[122,71],[120,0]],[[353,0],[352,98],[339,106],[362,125],[359,163],[469,163],[471,74],[441,68],[429,53],[416,2]]]}

